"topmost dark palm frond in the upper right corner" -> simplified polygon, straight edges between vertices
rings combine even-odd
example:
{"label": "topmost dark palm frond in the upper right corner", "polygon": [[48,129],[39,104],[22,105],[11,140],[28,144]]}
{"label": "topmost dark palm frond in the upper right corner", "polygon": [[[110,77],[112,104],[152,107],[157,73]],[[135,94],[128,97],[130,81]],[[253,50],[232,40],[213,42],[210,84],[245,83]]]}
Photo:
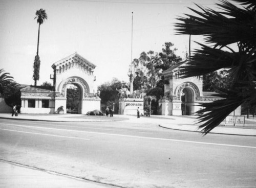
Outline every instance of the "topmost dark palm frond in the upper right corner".
{"label": "topmost dark palm frond in the upper right corner", "polygon": [[199,16],[185,14],[187,17],[178,17],[181,22],[175,23],[176,34],[204,35],[206,42],[220,46],[236,42],[255,44],[255,13],[238,8],[227,1],[222,1],[218,6],[224,11],[218,12],[198,6],[203,11],[199,12],[189,8]]}

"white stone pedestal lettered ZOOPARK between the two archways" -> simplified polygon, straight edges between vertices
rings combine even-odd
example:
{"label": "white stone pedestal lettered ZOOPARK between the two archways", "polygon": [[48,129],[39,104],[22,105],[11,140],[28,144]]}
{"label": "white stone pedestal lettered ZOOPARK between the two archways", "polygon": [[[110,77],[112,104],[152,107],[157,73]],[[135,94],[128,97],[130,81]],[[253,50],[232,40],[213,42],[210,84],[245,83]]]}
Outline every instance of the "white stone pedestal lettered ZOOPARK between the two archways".
{"label": "white stone pedestal lettered ZOOPARK between the two archways", "polygon": [[132,98],[124,98],[119,99],[119,109],[118,114],[124,115],[137,115],[137,109],[139,107],[140,114],[144,114],[143,99],[132,99]]}

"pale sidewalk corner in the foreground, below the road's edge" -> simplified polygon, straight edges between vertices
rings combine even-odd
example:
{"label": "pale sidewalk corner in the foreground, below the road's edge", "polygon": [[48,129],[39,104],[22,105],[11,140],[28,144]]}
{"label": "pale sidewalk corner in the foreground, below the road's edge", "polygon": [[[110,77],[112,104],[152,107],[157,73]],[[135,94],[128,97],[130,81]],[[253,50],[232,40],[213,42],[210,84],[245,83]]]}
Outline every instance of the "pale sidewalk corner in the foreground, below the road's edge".
{"label": "pale sidewalk corner in the foreground, below the road's edge", "polygon": [[0,187],[1,188],[113,188],[106,184],[91,182],[62,174],[25,167],[0,160]]}

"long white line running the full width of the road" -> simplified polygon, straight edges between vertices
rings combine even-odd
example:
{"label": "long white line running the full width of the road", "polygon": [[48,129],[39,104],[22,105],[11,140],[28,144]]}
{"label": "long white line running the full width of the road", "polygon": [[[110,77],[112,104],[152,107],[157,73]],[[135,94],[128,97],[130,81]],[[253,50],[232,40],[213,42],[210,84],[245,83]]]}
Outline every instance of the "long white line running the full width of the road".
{"label": "long white line running the full width of the road", "polygon": [[112,133],[101,133],[101,132],[90,132],[90,131],[77,131],[77,130],[56,129],[56,128],[48,128],[48,127],[35,127],[35,126],[32,127],[32,126],[15,125],[15,124],[6,124],[6,125],[13,125],[13,126],[17,126],[17,127],[39,128],[39,129],[62,130],[62,131],[69,131],[69,132],[83,132],[83,133],[89,133],[89,134],[101,134],[101,135],[122,136],[122,137],[131,137],[131,138],[144,138],[144,139],[165,140],[165,141],[183,142],[183,143],[194,143],[194,144],[205,144],[205,145],[216,145],[216,146],[230,146],[230,147],[237,147],[237,148],[253,148],[253,149],[256,149],[256,147],[253,147],[253,146],[217,144],[217,143],[204,143],[204,142],[197,142],[197,141],[190,141],[190,140],[169,139],[169,138],[154,138],[154,137],[145,137],[145,136],[132,136],[132,135],[124,135],[124,134],[112,134]]}

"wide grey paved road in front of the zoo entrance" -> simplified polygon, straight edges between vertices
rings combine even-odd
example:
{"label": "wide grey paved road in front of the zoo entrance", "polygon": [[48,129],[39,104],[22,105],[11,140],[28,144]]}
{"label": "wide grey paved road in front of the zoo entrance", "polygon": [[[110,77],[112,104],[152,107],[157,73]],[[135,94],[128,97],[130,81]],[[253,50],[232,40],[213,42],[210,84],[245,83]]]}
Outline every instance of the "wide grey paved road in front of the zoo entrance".
{"label": "wide grey paved road in front of the zoo entrance", "polygon": [[0,159],[121,187],[255,187],[254,137],[139,121],[1,120]]}

